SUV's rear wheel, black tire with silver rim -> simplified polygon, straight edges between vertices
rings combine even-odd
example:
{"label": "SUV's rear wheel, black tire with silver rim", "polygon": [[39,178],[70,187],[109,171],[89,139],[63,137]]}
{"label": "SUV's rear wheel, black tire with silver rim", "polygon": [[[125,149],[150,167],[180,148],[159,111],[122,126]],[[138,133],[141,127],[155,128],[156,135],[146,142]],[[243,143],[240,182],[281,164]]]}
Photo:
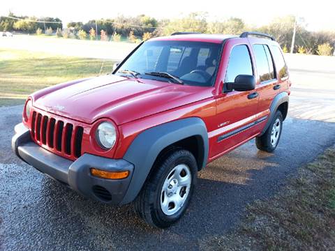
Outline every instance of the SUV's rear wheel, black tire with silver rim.
{"label": "SUV's rear wheel, black tire with silver rim", "polygon": [[262,151],[272,153],[278,146],[282,130],[283,114],[281,114],[281,111],[277,111],[265,133],[260,137],[256,137],[257,148]]}

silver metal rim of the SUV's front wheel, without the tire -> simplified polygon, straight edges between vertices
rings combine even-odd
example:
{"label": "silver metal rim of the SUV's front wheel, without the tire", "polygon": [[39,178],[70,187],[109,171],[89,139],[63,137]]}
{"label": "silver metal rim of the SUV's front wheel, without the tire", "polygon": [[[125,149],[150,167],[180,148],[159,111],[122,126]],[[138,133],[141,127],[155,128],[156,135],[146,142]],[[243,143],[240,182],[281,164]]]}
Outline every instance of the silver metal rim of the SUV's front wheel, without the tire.
{"label": "silver metal rim of the SUV's front wheel, without the tire", "polygon": [[161,209],[166,215],[177,213],[186,201],[191,188],[191,171],[187,165],[174,167],[161,190]]}

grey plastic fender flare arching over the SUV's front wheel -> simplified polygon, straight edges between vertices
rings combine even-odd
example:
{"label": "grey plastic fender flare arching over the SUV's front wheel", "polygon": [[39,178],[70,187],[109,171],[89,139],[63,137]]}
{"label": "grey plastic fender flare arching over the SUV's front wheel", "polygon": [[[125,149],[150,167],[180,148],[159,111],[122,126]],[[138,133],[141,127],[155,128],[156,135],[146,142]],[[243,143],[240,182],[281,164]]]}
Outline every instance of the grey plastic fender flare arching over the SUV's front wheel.
{"label": "grey plastic fender flare arching over the SUV's front wheel", "polygon": [[203,157],[200,164],[200,169],[202,169],[207,164],[209,152],[207,128],[202,119],[198,117],[179,119],[154,126],[137,135],[124,155],[124,160],[131,162],[135,168],[133,178],[121,204],[127,204],[137,197],[158,154],[163,149],[181,139],[192,136],[200,137],[203,142]]}

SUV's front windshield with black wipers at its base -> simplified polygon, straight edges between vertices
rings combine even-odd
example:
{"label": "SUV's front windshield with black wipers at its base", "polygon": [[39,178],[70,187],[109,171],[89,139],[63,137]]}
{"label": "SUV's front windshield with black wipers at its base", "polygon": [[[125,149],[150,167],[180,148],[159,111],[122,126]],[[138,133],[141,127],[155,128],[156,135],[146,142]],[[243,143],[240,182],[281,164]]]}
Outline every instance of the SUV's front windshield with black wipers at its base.
{"label": "SUV's front windshield with black wipers at its base", "polygon": [[194,86],[214,84],[221,44],[191,41],[148,41],[141,45],[117,75],[156,79]]}

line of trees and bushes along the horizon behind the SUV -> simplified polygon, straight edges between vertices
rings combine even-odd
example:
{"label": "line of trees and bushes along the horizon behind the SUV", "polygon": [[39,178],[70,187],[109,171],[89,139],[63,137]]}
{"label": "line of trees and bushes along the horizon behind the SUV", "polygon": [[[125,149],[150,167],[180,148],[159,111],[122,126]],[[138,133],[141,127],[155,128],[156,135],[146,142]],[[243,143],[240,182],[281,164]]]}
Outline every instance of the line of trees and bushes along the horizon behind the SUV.
{"label": "line of trees and bushes along the horizon behind the SUV", "polygon": [[[256,27],[246,24],[240,18],[231,17],[226,20],[209,22],[207,13],[190,13],[174,20],[156,20],[147,15],[126,17],[119,15],[110,19],[90,20],[89,22],[69,22],[66,27],[61,23],[43,23],[44,21],[61,22],[59,18],[11,17],[24,20],[13,20],[0,17],[0,31],[20,31],[24,33],[47,33],[64,38],[129,40],[138,43],[155,36],[166,36],[176,31],[193,31],[200,33],[239,34],[243,31],[259,31],[274,36],[284,52],[290,50],[295,17],[288,15],[277,17],[267,25]],[[29,22],[36,20],[39,22]],[[297,35],[294,52],[301,54],[331,55],[334,53],[335,31],[308,31],[304,20],[297,22]]]}

